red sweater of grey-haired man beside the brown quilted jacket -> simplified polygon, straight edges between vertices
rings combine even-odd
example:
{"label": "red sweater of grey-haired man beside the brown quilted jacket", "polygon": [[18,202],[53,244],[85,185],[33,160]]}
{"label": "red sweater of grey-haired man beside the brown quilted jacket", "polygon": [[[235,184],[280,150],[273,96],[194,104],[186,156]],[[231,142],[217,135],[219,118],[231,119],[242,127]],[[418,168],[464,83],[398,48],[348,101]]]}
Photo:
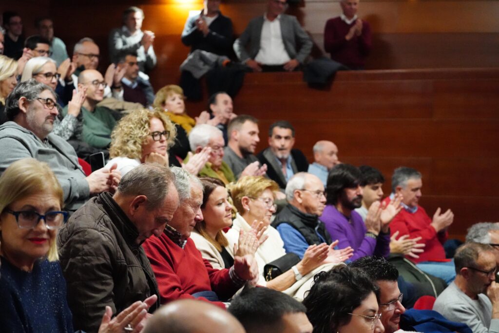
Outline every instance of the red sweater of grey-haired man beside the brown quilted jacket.
{"label": "red sweater of grey-haired man beside the brown quilted jacket", "polygon": [[[194,299],[191,294],[214,291],[222,300],[229,299],[241,286],[229,276],[229,270],[216,270],[201,257],[192,239],[182,249],[165,233],[149,237],[142,244],[158,282],[161,304],[178,299]],[[210,302],[205,298],[198,298]],[[223,309],[222,302],[210,302]]]}

